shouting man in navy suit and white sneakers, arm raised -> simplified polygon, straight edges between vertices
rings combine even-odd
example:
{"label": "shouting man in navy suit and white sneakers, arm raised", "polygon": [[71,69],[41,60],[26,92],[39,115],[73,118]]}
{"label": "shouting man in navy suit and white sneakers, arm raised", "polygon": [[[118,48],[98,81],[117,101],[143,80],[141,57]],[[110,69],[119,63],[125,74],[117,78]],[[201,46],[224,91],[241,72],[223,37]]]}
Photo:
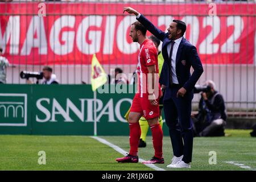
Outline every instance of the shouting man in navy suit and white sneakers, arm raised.
{"label": "shouting man in navy suit and white sneakers, arm raised", "polygon": [[[125,11],[135,14],[137,20],[163,42],[164,63],[159,82],[166,89],[163,99],[164,115],[174,152],[172,163],[167,167],[190,168],[193,148],[193,88],[203,73],[196,47],[183,38],[187,27],[181,20],[173,20],[166,33],[131,7],[125,7],[123,12]],[[192,75],[191,67],[194,69]]]}

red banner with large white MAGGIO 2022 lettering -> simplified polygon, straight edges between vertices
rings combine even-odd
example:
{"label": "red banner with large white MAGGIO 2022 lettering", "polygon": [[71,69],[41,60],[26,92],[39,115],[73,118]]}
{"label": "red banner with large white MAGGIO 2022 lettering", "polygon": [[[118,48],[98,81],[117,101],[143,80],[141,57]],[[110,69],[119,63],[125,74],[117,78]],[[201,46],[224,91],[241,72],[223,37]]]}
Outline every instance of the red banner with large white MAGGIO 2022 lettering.
{"label": "red banner with large white MAGGIO 2022 lettering", "polygon": [[137,64],[125,6],[163,31],[184,20],[204,64],[254,64],[255,3],[0,3],[0,46],[12,64],[90,64],[94,53],[101,64]]}

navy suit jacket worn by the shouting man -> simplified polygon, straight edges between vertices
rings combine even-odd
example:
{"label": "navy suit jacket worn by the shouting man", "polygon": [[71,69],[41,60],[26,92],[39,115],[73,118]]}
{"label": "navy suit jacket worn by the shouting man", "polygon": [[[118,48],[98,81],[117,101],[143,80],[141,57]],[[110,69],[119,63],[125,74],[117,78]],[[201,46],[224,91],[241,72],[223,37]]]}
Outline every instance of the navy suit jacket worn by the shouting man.
{"label": "navy suit jacket worn by the shouting man", "polygon": [[[169,86],[169,66],[168,66],[168,52],[167,45],[171,42],[168,39],[169,33],[165,33],[154,26],[143,15],[137,18],[139,22],[143,24],[153,35],[163,42],[162,54],[164,58],[162,72],[159,78],[160,84]],[[190,69],[194,69],[194,72],[190,73]],[[200,76],[203,73],[203,66],[201,60],[197,54],[196,47],[192,46],[185,38],[182,38],[176,55],[176,76],[179,84],[183,86],[187,92],[191,92]],[[165,96],[166,98],[166,96]]]}

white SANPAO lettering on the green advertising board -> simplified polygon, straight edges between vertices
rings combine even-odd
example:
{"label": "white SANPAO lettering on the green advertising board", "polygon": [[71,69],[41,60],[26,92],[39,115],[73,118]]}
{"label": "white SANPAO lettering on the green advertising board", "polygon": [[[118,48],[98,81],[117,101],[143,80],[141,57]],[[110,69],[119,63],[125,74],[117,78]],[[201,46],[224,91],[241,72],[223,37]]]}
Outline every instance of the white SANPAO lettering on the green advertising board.
{"label": "white SANPAO lettering on the green advertising board", "polygon": [[[93,115],[93,98],[80,98],[79,104],[65,97],[61,100],[56,98],[39,98],[36,101],[36,115],[35,121],[39,123],[44,122],[94,122]],[[99,122],[101,117],[106,115],[108,122],[125,122],[126,119],[122,117],[121,108],[123,103],[129,105],[132,103],[130,98],[122,98],[114,103],[113,98],[110,98],[107,102],[103,102],[100,99],[96,100],[97,106],[97,121]],[[63,105],[63,104],[64,105]],[[145,111],[146,112],[146,111]],[[58,117],[61,116],[61,119]]]}

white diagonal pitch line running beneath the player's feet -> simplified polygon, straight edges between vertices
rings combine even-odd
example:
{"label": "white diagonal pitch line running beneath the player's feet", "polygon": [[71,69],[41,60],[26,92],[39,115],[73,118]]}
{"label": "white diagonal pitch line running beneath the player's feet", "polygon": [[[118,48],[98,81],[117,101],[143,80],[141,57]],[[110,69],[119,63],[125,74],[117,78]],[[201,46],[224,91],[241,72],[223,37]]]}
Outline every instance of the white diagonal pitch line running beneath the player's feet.
{"label": "white diagonal pitch line running beneath the player's feet", "polygon": [[[120,148],[118,146],[115,146],[113,143],[110,143],[110,142],[108,142],[107,140],[105,140],[103,138],[100,138],[100,137],[91,137],[91,138],[94,138],[94,139],[98,140],[99,142],[101,142],[103,144],[106,144],[107,146],[113,148],[115,151],[119,152],[122,155],[127,154],[127,152],[122,150],[122,148]],[[142,162],[145,162],[145,160],[139,158],[139,162],[142,163]],[[144,165],[147,166],[147,167],[150,167],[152,169],[155,169],[156,171],[166,171],[163,168],[155,166],[154,164],[144,164]]]}

